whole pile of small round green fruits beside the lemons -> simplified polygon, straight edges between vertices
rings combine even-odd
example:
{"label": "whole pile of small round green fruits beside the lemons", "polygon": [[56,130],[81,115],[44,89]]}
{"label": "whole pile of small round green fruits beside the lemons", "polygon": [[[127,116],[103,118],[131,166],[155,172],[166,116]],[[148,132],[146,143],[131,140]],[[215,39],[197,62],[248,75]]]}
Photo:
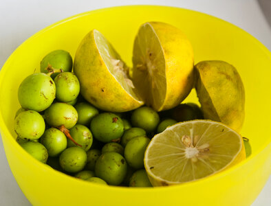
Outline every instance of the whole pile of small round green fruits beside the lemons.
{"label": "whole pile of small round green fruits beside the lemons", "polygon": [[159,114],[148,106],[126,113],[99,111],[79,94],[72,57],[63,50],[47,54],[41,71],[19,87],[17,141],[39,161],[87,181],[151,186],[143,161],[151,137],[177,122],[203,117],[193,103]]}

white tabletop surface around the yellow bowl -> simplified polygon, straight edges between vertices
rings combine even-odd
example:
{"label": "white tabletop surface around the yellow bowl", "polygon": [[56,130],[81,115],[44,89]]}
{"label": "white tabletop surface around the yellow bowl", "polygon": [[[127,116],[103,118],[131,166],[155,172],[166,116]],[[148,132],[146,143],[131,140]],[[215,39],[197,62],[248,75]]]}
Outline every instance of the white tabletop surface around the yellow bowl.
{"label": "white tabletop surface around the yellow bowl", "polygon": [[[23,41],[56,21],[98,8],[135,4],[171,5],[211,14],[241,27],[271,49],[271,30],[256,0],[0,0],[0,68]],[[12,176],[2,141],[0,165],[0,205],[30,205]],[[271,205],[270,194],[271,178],[252,206]]]}

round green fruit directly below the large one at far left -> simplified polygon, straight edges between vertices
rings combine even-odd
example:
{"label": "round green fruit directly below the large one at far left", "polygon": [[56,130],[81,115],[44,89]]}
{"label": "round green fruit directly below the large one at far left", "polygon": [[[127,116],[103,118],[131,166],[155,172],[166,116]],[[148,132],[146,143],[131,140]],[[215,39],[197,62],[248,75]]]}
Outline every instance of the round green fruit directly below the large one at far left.
{"label": "round green fruit directly below the large one at far left", "polygon": [[19,113],[15,118],[15,132],[21,139],[39,139],[45,130],[43,117],[36,111],[28,110]]}

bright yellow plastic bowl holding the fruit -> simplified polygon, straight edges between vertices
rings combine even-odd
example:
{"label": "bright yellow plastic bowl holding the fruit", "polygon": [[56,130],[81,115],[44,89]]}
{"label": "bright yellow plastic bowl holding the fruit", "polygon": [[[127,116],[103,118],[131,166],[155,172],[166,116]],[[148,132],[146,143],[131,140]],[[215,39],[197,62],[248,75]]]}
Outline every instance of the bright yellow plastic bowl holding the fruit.
{"label": "bright yellow plastic bowl holding the fruit", "polygon": [[[191,40],[195,63],[225,60],[234,65],[246,89],[246,121],[241,134],[250,139],[252,156],[234,167],[193,183],[156,188],[96,185],[80,181],[33,159],[15,141],[14,115],[20,107],[21,81],[54,49],[72,56],[89,30],[97,29],[131,65],[133,38],[146,21],[179,27]],[[8,58],[0,76],[0,124],[12,173],[33,205],[250,205],[271,173],[270,52],[235,25],[191,10],[136,5],[72,16],[41,30]],[[186,101],[196,102],[195,93]]]}

